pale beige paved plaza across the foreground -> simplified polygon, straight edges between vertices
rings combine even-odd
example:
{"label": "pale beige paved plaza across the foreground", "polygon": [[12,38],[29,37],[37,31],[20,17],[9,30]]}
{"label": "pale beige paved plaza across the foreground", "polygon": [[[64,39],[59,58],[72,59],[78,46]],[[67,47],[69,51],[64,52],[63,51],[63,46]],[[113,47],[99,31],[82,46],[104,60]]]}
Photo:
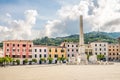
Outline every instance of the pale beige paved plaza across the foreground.
{"label": "pale beige paved plaza across the foreground", "polygon": [[9,66],[0,68],[0,80],[120,80],[120,63]]}

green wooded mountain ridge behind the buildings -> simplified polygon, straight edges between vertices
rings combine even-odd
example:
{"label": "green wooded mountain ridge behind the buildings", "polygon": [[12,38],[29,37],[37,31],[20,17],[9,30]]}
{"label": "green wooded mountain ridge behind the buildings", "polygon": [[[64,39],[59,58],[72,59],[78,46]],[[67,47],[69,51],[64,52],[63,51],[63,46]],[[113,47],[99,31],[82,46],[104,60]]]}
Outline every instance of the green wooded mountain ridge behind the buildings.
{"label": "green wooded mountain ridge behind the buildings", "polygon": [[[84,40],[85,44],[94,42],[94,41],[103,41],[108,43],[117,43],[117,38],[120,37],[120,32],[115,33],[106,33],[106,32],[89,32],[84,34]],[[78,42],[79,41],[79,35],[70,35],[66,37],[56,37],[56,38],[48,38],[43,37],[41,39],[35,39],[33,40],[33,43],[35,45],[54,45],[58,46],[61,42]]]}

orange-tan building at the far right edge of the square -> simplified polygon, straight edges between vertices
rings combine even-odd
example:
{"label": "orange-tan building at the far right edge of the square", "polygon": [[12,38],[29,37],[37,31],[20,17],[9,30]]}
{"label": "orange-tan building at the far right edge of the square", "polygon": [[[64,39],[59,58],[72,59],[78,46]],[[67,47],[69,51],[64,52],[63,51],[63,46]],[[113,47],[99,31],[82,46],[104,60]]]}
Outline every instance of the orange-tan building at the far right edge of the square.
{"label": "orange-tan building at the far right edge of the square", "polygon": [[108,59],[110,61],[118,61],[120,53],[120,45],[119,44],[109,44],[108,45]]}

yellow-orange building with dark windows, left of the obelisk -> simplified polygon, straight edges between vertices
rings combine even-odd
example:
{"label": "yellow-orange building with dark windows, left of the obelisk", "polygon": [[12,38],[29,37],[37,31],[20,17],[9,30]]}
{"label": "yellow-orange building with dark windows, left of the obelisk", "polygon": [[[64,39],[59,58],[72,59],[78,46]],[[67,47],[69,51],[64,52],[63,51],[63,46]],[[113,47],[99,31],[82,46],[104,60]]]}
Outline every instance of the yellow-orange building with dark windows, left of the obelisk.
{"label": "yellow-orange building with dark windows, left of the obelisk", "polygon": [[66,58],[66,48],[61,46],[49,46],[48,47],[48,55],[49,57],[55,59],[58,57]]}

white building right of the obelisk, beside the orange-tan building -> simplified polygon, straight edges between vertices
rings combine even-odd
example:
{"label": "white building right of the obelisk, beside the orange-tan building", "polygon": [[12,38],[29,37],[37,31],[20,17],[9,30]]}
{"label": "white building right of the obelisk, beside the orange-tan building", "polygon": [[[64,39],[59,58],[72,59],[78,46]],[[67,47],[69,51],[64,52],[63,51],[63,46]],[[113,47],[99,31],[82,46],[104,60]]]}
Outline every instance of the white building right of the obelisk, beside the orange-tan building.
{"label": "white building right of the obelisk, beside the orange-tan building", "polygon": [[93,54],[104,55],[106,60],[108,60],[108,43],[107,42],[92,42],[90,43]]}

